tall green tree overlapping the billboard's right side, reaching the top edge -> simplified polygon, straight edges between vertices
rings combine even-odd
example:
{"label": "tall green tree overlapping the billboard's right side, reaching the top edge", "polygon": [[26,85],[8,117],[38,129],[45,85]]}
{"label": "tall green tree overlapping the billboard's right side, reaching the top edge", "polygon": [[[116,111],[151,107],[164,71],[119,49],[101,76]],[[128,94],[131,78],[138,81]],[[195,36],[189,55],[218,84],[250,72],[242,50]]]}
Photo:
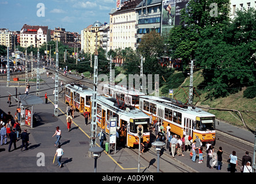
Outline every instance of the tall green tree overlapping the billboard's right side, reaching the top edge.
{"label": "tall green tree overlapping the billboard's right side, reaching the top edge", "polygon": [[[217,8],[216,12],[213,12],[214,8]],[[170,30],[168,45],[172,51],[171,57],[182,59],[186,66],[191,59],[195,59],[195,51],[205,26],[219,26],[229,20],[229,0],[191,0],[180,13],[180,25]],[[218,13],[217,16],[214,13]]]}

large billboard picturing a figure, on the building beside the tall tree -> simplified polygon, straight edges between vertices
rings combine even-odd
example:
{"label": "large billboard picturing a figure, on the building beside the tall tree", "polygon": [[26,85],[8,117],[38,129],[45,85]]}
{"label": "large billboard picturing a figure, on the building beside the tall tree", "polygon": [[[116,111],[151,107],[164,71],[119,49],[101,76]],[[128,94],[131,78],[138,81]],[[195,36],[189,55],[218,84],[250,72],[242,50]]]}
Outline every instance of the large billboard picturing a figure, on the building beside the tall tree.
{"label": "large billboard picturing a figure, on the building beside the tall tree", "polygon": [[180,10],[186,7],[189,0],[163,0],[161,33],[169,32],[180,23]]}

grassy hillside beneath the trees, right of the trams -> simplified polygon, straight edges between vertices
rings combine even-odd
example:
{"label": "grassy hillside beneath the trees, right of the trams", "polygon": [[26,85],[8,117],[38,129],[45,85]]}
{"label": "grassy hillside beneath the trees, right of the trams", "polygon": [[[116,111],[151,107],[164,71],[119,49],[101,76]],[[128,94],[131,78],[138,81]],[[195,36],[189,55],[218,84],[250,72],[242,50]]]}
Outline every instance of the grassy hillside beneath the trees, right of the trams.
{"label": "grassy hillside beneath the trees, right of the trams", "polygon": [[[189,86],[190,78],[186,78],[185,81],[180,86]],[[204,106],[208,108],[217,108],[217,109],[235,109],[235,110],[247,110],[249,112],[242,113],[244,121],[246,124],[251,128],[255,129],[256,127],[256,98],[247,99],[243,98],[243,91],[246,89],[244,87],[241,91],[235,94],[230,94],[228,97],[225,98],[217,98],[217,99],[210,99],[209,98],[209,91],[198,89],[198,86],[202,84],[204,78],[202,77],[202,71],[194,72],[194,82],[193,86],[196,89],[196,92],[199,94],[199,97],[194,97],[194,103],[197,102],[197,106]],[[162,87],[163,88],[163,87]],[[189,87],[178,87],[174,89],[175,98],[179,101],[186,102],[187,95],[189,94]],[[168,97],[168,94],[162,94],[160,89],[160,96]],[[207,109],[204,109],[208,111]],[[243,123],[240,118],[232,112],[227,111],[219,111],[219,110],[209,110],[210,113],[216,115],[216,118],[219,120],[223,120],[234,124],[238,127],[243,127]],[[254,112],[254,113],[250,113]]]}

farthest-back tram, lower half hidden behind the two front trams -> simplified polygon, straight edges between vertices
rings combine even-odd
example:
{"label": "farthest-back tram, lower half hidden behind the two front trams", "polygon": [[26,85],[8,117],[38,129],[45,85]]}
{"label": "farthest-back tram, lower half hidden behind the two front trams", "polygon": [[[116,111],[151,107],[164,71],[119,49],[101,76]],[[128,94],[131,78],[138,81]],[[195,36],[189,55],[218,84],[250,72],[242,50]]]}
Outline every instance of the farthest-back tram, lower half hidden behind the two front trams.
{"label": "farthest-back tram, lower half hidden behind the two front trams", "polygon": [[103,94],[106,97],[116,98],[119,101],[125,102],[125,104],[134,106],[138,109],[140,96],[145,95],[138,90],[128,90],[127,87],[119,85],[103,85]]}

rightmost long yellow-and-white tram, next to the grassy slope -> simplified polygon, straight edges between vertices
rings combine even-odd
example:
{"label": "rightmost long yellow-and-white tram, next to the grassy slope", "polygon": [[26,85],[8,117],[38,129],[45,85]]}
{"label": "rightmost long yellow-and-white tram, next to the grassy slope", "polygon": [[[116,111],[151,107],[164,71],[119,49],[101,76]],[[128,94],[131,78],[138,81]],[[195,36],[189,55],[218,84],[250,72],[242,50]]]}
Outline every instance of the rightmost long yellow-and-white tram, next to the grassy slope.
{"label": "rightmost long yellow-and-white tram, next to the grassy slope", "polygon": [[180,137],[186,133],[193,140],[198,136],[202,143],[210,141],[215,144],[214,114],[184,106],[181,102],[176,104],[170,98],[153,96],[140,97],[140,109],[149,116],[152,115],[153,120],[157,118],[157,122],[163,123],[165,132],[170,124],[171,132]]}

